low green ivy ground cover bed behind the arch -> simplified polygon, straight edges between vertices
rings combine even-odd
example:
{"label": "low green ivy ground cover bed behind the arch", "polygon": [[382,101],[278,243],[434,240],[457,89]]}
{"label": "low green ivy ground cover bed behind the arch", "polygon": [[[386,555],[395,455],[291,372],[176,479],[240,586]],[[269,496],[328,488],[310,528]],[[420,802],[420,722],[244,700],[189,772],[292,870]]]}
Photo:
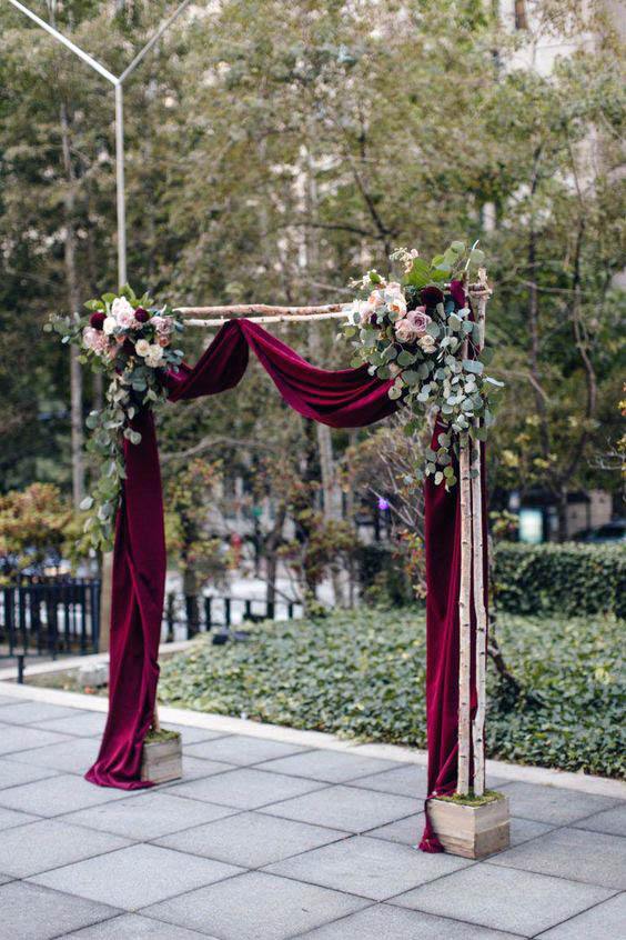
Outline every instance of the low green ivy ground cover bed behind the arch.
{"label": "low green ivy ground cover bed behind the arch", "polygon": [[[489,669],[491,757],[607,776],[624,771],[623,623],[503,618],[499,639],[526,692],[515,704]],[[265,622],[246,643],[193,650],[161,668],[168,704],[425,747],[425,623],[415,609],[360,609]]]}

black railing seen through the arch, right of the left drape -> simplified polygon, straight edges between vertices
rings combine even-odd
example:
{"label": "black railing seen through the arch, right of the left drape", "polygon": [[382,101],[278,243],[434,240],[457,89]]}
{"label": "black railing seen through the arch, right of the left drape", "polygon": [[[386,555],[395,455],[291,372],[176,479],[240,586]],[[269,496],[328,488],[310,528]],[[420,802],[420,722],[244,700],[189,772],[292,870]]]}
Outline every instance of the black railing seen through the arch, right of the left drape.
{"label": "black railing seen through the arch, right of the left drape", "polygon": [[191,639],[211,630],[230,632],[236,624],[259,623],[276,617],[293,620],[301,614],[299,601],[265,601],[230,597],[198,597],[169,593],[163,610],[162,639]]}

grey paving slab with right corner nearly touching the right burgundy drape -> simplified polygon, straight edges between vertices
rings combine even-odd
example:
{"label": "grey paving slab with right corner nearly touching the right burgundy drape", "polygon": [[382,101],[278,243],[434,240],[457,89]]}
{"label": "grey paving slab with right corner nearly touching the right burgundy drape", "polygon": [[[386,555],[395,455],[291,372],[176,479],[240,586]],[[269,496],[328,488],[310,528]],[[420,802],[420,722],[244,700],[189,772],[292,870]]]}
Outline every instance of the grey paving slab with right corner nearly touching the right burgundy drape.
{"label": "grey paving slab with right corner nearly touching the right burgundy drape", "polygon": [[265,812],[284,819],[311,822],[314,826],[364,832],[404,816],[414,816],[415,810],[420,808],[418,800],[410,800],[407,797],[337,786],[276,802],[267,807]]}

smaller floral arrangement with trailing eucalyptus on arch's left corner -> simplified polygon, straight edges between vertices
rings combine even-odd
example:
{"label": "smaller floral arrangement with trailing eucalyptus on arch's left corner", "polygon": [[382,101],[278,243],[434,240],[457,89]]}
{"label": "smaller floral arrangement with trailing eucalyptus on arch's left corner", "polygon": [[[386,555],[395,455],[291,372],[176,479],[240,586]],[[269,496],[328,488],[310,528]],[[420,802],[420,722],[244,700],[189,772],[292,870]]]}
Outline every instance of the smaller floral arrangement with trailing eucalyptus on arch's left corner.
{"label": "smaller floral arrangement with trailing eucalyptus on arch's left corner", "polygon": [[170,307],[154,307],[148,294],[138,298],[129,287],[84,306],[90,313],[53,316],[47,329],[60,333],[64,343],[78,346],[80,361],[107,377],[105,404],[87,419],[92,431],[88,450],[101,468],[100,477],[81,503],[81,509],[89,511],[84,523],[88,541],[107,550],[113,541],[125,476],[123,441],[141,441],[133,419],[141,409],[165,398],[168,372],[178,370],[183,359],[174,343],[183,323]]}

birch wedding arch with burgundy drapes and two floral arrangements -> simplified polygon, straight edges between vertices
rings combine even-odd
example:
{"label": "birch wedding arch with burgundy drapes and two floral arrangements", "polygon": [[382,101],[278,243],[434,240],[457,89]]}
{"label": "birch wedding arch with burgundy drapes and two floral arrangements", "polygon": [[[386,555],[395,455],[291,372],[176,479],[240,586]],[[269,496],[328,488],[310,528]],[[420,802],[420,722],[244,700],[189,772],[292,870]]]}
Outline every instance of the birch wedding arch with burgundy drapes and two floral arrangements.
{"label": "birch wedding arch with burgundy drapes and two floral arrangements", "polygon": [[[109,376],[107,408],[88,419],[105,461],[88,527],[101,544],[114,531],[110,707],[88,780],[128,790],[151,786],[141,780],[141,759],[154,726],[166,563],[152,406],[233,389],[252,351],[291,408],[331,427],[363,427],[407,403],[416,410],[444,402],[435,408],[424,480],[428,798],[485,793],[484,440],[492,419],[476,382],[484,379],[491,289],[484,269],[470,283],[467,264],[460,279],[444,280],[460,244],[430,266],[417,252],[400,252],[404,284],[367,272],[361,287],[368,298],[350,306],[173,310],[151,307],[147,294],[138,298],[127,288],[88,302],[88,320],[53,318],[63,341],[81,344]],[[356,336],[363,364],[317,368],[263,328],[326,319],[342,320],[346,337]],[[176,332],[188,327],[220,327],[193,368],[174,349]],[[420,847],[442,850],[428,812]]]}

